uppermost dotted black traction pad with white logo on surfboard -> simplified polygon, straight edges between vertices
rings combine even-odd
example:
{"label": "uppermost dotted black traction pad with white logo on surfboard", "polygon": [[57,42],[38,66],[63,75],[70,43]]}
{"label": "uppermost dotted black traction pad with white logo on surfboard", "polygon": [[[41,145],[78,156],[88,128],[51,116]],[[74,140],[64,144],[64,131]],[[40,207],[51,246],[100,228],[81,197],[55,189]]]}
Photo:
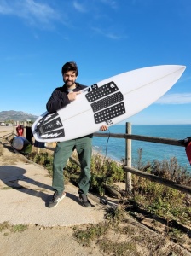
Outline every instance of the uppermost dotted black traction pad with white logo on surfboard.
{"label": "uppermost dotted black traction pad with white logo on surfboard", "polygon": [[88,102],[95,102],[96,100],[112,94],[114,91],[119,90],[118,86],[114,82],[104,84],[101,87],[96,87],[88,92],[85,97]]}

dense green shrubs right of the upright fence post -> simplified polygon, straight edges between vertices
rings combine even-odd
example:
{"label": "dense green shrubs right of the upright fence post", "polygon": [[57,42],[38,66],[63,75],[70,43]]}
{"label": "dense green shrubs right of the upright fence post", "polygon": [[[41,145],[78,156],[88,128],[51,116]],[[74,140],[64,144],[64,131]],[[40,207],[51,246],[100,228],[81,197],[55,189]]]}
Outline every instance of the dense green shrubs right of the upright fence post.
{"label": "dense green shrubs right of the upright fence post", "polygon": [[[139,151],[141,158],[142,151]],[[141,162],[141,161],[140,161]],[[152,173],[159,177],[174,181],[176,183],[191,185],[191,172],[178,165],[175,157],[171,160],[159,162],[153,161],[142,166],[137,166],[140,170]],[[125,201],[126,210],[144,212],[165,218],[169,223],[176,220],[178,223],[191,224],[191,197],[171,189],[165,185],[148,181],[145,178],[132,176],[133,194]]]}

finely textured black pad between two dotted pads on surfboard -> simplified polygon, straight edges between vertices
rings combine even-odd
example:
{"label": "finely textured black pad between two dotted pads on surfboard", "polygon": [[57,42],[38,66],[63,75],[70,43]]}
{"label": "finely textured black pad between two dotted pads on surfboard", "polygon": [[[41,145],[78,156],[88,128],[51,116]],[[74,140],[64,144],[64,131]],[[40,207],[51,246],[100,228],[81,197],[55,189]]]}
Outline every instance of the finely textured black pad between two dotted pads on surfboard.
{"label": "finely textured black pad between two dotted pads on surfboard", "polygon": [[107,96],[104,99],[101,99],[100,101],[94,102],[91,104],[91,108],[93,112],[97,112],[103,108],[107,108],[117,102],[122,102],[124,100],[123,94],[119,91],[111,96]]}

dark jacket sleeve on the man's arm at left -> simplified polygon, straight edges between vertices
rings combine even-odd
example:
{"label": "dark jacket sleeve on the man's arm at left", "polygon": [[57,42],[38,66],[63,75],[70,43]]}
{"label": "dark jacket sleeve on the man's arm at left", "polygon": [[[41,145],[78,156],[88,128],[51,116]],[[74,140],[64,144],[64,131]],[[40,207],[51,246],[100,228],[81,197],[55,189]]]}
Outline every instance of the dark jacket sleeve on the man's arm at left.
{"label": "dark jacket sleeve on the man's arm at left", "polygon": [[55,111],[67,106],[69,103],[70,101],[67,97],[67,93],[55,89],[46,104],[46,109],[49,113],[55,113]]}

